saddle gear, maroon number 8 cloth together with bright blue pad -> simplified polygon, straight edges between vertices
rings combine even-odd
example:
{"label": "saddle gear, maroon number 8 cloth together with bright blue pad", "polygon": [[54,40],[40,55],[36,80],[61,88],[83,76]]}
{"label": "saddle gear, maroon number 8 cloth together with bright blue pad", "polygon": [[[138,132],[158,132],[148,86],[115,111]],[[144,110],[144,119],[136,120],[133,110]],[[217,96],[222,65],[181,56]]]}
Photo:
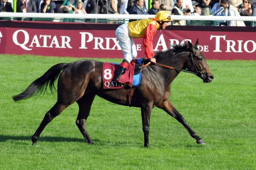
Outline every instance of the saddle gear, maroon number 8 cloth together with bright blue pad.
{"label": "saddle gear, maroon number 8 cloth together with bright blue pad", "polygon": [[132,60],[119,82],[115,82],[120,63],[104,63],[102,69],[102,82],[104,89],[131,88],[140,85],[141,68],[144,59]]}

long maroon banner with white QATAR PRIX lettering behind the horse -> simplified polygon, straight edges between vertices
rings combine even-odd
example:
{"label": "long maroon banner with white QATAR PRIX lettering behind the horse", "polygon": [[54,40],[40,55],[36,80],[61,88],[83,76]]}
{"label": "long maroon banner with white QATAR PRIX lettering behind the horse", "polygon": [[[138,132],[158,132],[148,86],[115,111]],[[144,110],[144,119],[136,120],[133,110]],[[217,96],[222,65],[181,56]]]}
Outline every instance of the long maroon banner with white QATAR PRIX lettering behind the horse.
{"label": "long maroon banner with white QATAR PRIX lettering behind the horse", "polygon": [[[0,53],[90,58],[123,58],[115,36],[119,24],[0,21]],[[256,60],[256,27],[168,26],[154,35],[154,51],[199,41],[206,59]],[[134,39],[138,58],[142,39]]]}

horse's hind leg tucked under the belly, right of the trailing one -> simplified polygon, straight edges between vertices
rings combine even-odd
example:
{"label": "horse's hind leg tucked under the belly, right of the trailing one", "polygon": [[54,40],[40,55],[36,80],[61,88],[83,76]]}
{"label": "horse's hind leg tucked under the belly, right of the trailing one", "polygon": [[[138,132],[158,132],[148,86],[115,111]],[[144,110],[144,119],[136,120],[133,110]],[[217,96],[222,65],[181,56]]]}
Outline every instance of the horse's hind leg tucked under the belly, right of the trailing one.
{"label": "horse's hind leg tucked under the belly, right of the trailing one", "polygon": [[76,125],[88,144],[93,144],[93,142],[88,132],[86,131],[86,120],[90,114],[90,109],[91,109],[94,97],[95,97],[95,94],[92,94],[92,93],[85,94],[82,98],[80,98],[77,101],[77,104],[79,106],[79,111],[76,119]]}

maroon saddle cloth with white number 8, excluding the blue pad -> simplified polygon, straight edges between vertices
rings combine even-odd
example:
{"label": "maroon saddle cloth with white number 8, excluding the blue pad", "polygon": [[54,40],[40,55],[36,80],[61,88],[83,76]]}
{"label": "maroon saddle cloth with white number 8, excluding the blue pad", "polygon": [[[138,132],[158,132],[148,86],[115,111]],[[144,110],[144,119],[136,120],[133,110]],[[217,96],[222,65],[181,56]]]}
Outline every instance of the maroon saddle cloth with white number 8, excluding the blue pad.
{"label": "maroon saddle cloth with white number 8, excluding the blue pad", "polygon": [[117,89],[126,86],[132,87],[135,60],[129,64],[126,72],[120,77],[119,82],[115,82],[116,74],[120,64],[104,63],[102,69],[102,82],[104,89]]}

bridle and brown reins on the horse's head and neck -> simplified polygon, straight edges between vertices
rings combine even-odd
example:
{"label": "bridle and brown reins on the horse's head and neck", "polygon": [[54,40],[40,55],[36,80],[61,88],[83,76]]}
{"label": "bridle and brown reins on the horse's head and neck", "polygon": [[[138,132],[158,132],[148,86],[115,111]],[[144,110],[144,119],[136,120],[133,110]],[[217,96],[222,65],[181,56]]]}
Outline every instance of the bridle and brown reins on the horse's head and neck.
{"label": "bridle and brown reins on the horse's head and neck", "polygon": [[[165,68],[170,68],[170,69],[176,70],[176,71],[188,72],[188,73],[195,74],[196,76],[202,78],[203,77],[202,71],[208,67],[208,64],[204,68],[200,68],[198,65],[196,65],[196,63],[194,61],[194,58],[193,58],[193,55],[194,55],[194,52],[190,52],[189,60],[186,63],[186,67],[188,66],[188,63],[190,62],[190,60],[192,60],[192,64],[193,64],[196,72],[188,71],[187,68],[179,69],[179,68],[175,68],[175,67],[172,67],[172,66],[167,66],[167,65],[164,65],[164,64],[159,64],[159,63],[152,63],[152,64],[156,64],[156,65],[159,65],[159,66],[162,66],[162,67],[165,67]],[[147,64],[144,65],[144,61],[143,61],[143,64],[142,64],[142,66],[140,68],[148,66],[151,63],[151,62],[148,62]]]}

